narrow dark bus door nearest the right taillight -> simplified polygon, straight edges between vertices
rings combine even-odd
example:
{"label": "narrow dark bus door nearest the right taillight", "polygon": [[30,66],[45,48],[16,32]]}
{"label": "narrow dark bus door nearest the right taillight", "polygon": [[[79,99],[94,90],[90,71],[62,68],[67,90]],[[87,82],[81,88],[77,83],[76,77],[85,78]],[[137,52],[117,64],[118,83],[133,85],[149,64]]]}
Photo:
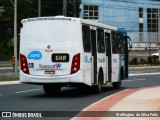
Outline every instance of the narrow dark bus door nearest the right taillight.
{"label": "narrow dark bus door nearest the right taillight", "polygon": [[92,55],[92,70],[91,78],[92,84],[97,83],[97,45],[96,45],[96,28],[91,29],[91,55]]}

